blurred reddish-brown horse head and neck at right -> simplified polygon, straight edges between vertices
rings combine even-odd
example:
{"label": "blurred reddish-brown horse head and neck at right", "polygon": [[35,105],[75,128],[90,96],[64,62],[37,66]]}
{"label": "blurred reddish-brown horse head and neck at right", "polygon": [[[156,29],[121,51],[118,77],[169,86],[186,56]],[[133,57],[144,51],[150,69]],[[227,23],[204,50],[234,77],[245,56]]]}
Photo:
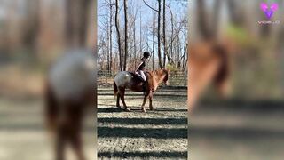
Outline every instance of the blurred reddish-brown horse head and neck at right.
{"label": "blurred reddish-brown horse head and neck at right", "polygon": [[212,41],[193,43],[188,52],[188,108],[193,109],[201,92],[213,84],[221,97],[230,92],[230,46]]}

